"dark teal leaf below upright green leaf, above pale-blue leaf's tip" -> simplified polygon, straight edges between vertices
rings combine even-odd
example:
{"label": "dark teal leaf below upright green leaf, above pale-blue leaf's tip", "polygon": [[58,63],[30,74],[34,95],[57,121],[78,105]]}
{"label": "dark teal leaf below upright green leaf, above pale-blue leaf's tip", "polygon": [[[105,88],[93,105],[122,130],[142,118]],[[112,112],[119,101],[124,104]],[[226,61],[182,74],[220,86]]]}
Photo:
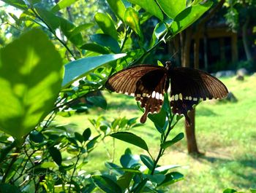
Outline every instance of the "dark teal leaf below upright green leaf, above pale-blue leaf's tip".
{"label": "dark teal leaf below upright green leaf, above pale-blue leaf's tip", "polygon": [[107,34],[94,34],[91,36],[91,41],[103,47],[108,47],[114,53],[121,52],[116,39],[113,39],[113,37],[108,36]]}

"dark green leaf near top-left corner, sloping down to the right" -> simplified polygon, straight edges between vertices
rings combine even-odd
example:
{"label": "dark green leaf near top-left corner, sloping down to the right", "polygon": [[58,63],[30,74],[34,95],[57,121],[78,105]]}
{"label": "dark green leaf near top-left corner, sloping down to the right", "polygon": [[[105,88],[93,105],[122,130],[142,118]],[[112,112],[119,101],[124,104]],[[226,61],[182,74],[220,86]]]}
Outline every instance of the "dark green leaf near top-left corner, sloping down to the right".
{"label": "dark green leaf near top-left corner, sloping down to the right", "polygon": [[36,7],[37,13],[42,20],[50,27],[51,30],[56,30],[56,28],[60,25],[59,17],[54,15],[52,12],[49,12],[47,9],[43,9],[41,7]]}

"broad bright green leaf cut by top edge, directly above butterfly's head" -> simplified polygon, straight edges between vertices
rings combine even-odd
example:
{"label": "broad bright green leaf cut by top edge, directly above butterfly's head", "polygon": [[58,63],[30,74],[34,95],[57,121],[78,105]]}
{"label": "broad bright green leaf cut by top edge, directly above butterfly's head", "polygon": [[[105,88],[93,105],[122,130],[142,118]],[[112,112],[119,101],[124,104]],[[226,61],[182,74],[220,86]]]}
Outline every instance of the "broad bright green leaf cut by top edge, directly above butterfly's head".
{"label": "broad bright green leaf cut by top edge, directly above butterfly's head", "polygon": [[178,13],[186,8],[186,0],[157,0],[159,7],[165,12],[165,14],[174,19]]}

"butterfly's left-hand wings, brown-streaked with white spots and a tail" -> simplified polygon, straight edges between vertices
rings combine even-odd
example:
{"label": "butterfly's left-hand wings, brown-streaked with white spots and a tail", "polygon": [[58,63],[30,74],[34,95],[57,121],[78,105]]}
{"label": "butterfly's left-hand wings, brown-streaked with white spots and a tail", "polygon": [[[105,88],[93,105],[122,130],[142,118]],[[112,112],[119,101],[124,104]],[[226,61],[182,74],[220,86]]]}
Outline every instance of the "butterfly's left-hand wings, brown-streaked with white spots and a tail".
{"label": "butterfly's left-hand wings, brown-streaked with white spots and a tail", "polygon": [[140,122],[146,122],[148,113],[158,113],[167,90],[167,71],[161,66],[141,65],[118,71],[105,84],[108,90],[135,96],[145,108]]}

